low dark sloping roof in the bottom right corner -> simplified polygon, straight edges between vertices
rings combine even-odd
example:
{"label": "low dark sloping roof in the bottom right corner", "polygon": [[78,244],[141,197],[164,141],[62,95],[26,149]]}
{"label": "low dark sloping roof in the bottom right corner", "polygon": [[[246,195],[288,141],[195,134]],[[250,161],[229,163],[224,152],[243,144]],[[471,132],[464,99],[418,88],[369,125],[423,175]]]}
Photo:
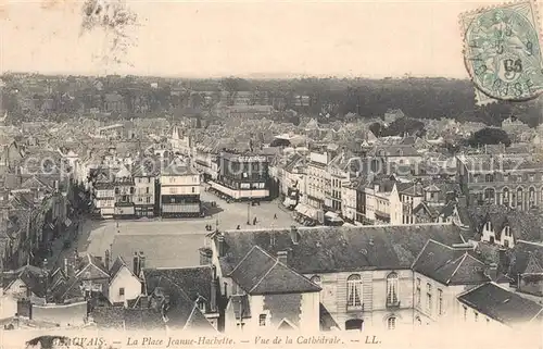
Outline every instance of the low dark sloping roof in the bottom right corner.
{"label": "low dark sloping roof in the bottom right corner", "polygon": [[508,326],[526,324],[538,317],[543,307],[493,283],[480,285],[458,296],[458,300]]}

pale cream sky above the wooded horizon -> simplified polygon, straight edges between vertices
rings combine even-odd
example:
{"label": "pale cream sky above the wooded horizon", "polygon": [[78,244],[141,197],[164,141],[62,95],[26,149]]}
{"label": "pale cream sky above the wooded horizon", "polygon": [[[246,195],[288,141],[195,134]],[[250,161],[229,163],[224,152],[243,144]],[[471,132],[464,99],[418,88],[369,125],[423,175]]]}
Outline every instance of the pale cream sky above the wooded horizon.
{"label": "pale cream sky above the wooded horizon", "polygon": [[80,36],[81,2],[0,0],[0,72],[466,78],[458,15],[493,3],[126,0],[138,26],[115,64],[111,34]]}

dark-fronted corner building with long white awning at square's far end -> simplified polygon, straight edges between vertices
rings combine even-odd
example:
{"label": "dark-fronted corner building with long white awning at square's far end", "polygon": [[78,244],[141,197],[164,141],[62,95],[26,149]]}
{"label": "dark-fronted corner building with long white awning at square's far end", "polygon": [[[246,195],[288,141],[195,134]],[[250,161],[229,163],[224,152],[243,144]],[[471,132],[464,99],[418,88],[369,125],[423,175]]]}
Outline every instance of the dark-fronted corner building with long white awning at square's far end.
{"label": "dark-fronted corner building with long white awning at square's far end", "polygon": [[263,200],[269,197],[268,159],[254,153],[224,151],[218,157],[217,180],[213,189],[233,200]]}

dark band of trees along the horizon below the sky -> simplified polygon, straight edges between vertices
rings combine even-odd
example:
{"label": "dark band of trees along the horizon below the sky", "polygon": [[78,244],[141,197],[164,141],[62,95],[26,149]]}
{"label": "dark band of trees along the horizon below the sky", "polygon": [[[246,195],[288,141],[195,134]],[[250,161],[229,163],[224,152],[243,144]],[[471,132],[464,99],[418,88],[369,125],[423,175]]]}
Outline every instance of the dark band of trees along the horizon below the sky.
{"label": "dark band of trees along the horizon below the sky", "polygon": [[[146,116],[179,108],[211,108],[220,100],[220,94],[226,94],[228,100],[233,101],[239,92],[250,91],[258,96],[257,103],[265,100],[278,110],[292,109],[312,116],[321,115],[324,120],[341,120],[349,113],[361,117],[382,116],[389,109],[401,109],[413,119],[451,117],[496,126],[510,115],[531,126],[538,125],[542,119],[539,99],[478,107],[471,82],[446,78],[253,80],[236,77],[182,79],[113,75],[94,78],[14,74],[1,78],[4,82],[3,108],[23,117],[23,113],[28,113],[24,103],[29,99],[38,101],[38,104],[42,100],[53,104],[46,110],[37,108],[37,114],[70,115],[88,108],[99,108],[108,95],[117,94],[122,96],[127,113]],[[211,92],[207,94],[211,99],[205,99],[203,92]],[[262,99],[262,96],[266,98]],[[301,102],[302,99],[305,102]]]}

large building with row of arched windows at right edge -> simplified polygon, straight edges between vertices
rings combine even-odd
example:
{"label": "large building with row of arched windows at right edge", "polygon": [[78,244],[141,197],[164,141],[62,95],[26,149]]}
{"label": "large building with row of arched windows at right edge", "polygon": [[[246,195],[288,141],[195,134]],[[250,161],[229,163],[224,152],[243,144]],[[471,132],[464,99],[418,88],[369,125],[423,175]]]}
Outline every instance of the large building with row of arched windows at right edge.
{"label": "large building with row of arched windows at right edge", "polygon": [[458,183],[469,202],[529,210],[543,202],[543,163],[516,154],[460,155]]}

